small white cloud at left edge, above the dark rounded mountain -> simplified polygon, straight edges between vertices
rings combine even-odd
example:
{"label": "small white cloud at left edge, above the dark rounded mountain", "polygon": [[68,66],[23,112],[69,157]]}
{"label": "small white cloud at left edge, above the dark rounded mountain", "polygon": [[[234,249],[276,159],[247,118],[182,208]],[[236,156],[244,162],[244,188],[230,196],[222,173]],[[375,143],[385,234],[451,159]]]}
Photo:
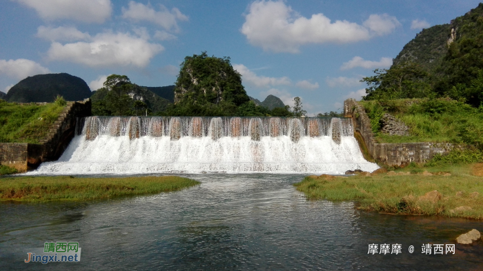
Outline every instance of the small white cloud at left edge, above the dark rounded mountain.
{"label": "small white cloud at left edge, above the dark rounded mountain", "polygon": [[42,67],[39,63],[28,59],[0,59],[0,74],[14,79],[26,79],[36,74],[50,73],[48,68]]}

